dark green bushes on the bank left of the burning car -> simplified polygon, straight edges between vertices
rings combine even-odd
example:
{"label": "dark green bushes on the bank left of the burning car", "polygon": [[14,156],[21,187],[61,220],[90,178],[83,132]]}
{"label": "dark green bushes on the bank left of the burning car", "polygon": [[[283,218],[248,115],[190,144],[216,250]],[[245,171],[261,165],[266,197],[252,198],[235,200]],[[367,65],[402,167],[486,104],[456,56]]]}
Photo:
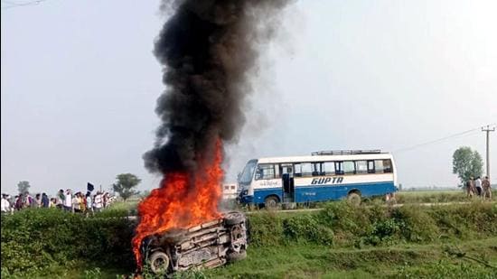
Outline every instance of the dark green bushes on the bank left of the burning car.
{"label": "dark green bushes on the bank left of the burning car", "polygon": [[133,265],[127,219],[84,218],[59,209],[2,216],[2,273],[30,274],[76,262]]}

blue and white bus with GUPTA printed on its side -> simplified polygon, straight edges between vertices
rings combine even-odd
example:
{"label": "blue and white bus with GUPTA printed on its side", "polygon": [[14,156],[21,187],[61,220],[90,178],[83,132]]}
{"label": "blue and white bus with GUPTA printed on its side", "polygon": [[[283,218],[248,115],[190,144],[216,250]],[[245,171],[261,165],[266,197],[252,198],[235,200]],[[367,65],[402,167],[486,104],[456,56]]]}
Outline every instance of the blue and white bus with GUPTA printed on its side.
{"label": "blue and white bus with GUPTA printed on its side", "polygon": [[238,184],[240,203],[267,208],[281,202],[348,199],[357,203],[398,191],[393,156],[380,150],[252,159],[240,172]]}

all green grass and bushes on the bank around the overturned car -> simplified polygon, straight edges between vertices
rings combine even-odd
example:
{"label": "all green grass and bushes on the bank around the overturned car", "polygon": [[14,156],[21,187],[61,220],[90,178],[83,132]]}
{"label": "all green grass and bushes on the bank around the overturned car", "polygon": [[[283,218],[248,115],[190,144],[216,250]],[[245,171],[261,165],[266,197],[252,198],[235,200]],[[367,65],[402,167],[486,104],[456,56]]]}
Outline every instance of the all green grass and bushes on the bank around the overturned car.
{"label": "all green grass and bushes on the bank around the overturned car", "polygon": [[[116,206],[116,205],[115,205]],[[110,213],[119,213],[116,208]],[[2,277],[122,278],[133,222],[58,210],[2,216]],[[246,260],[178,278],[496,278],[497,205],[352,206],[248,215]],[[145,274],[146,275],[146,274]],[[153,276],[145,276],[153,278]]]}

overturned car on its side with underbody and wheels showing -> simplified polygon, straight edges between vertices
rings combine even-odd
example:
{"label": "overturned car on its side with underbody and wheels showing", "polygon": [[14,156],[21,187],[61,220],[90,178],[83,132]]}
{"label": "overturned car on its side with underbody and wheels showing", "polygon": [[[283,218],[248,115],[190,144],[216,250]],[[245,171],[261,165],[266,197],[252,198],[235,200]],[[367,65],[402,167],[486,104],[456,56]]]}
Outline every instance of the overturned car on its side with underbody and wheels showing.
{"label": "overturned car on its side with underbody and wheels showing", "polygon": [[155,274],[173,274],[192,267],[212,268],[244,259],[247,226],[243,213],[230,212],[192,228],[146,237],[141,246],[143,264]]}

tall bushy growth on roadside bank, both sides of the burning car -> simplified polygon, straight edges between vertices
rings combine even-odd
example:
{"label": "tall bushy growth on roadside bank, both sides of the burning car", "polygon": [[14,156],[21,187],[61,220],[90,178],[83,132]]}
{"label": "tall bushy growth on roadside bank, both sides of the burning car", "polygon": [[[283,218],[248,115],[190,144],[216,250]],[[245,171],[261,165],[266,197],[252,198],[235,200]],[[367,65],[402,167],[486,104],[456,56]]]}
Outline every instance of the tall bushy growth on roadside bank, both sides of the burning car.
{"label": "tall bushy growth on roadside bank, both sides of the burning car", "polygon": [[[53,266],[113,265],[131,271],[135,265],[130,241],[136,224],[127,219],[107,217],[85,219],[56,209],[27,209],[3,215],[3,277],[46,276],[52,273]],[[317,257],[319,265],[325,265],[332,261],[330,248],[391,249],[497,236],[497,205],[484,202],[400,208],[355,207],[346,202],[333,202],[323,210],[311,213],[281,214],[261,210],[248,215],[248,220],[248,251],[257,253],[249,256],[257,257],[259,265],[266,263],[273,267],[292,265],[275,262],[270,256],[275,251],[301,253],[281,257],[281,261],[303,259],[306,254]],[[493,246],[497,247],[497,244]],[[309,252],[315,249],[321,252]],[[333,258],[333,261],[337,259]],[[303,260],[298,264],[303,276],[312,275],[306,272],[312,273],[314,269],[305,266],[313,263]],[[409,272],[413,271],[409,269]]]}

